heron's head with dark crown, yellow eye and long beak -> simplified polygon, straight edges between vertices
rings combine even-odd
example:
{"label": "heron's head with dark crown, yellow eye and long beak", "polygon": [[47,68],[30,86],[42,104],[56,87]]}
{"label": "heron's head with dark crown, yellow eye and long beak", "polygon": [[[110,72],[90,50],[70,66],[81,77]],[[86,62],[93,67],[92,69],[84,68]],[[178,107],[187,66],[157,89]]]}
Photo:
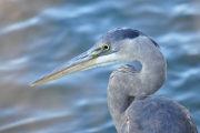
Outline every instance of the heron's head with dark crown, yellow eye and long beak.
{"label": "heron's head with dark crown, yellow eye and long beak", "polygon": [[[42,84],[63,75],[96,66],[132,61],[134,60],[133,57],[138,54],[137,49],[139,48],[137,43],[140,43],[141,37],[147,35],[140,31],[128,28],[111,30],[102,35],[90,50],[56,68],[51,72],[46,73],[30,85]],[[157,45],[156,42],[154,44]]]}

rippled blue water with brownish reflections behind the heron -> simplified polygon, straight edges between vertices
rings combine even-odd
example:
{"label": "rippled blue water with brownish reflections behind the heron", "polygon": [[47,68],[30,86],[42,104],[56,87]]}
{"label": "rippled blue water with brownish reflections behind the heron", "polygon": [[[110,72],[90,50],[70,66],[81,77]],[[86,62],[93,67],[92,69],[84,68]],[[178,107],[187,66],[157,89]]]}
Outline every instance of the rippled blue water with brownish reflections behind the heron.
{"label": "rippled blue water with brownish reflections behind the heron", "polygon": [[1,0],[0,132],[116,133],[107,85],[116,64],[29,86],[117,27],[161,47],[168,80],[154,94],[186,106],[200,131],[200,1]]}

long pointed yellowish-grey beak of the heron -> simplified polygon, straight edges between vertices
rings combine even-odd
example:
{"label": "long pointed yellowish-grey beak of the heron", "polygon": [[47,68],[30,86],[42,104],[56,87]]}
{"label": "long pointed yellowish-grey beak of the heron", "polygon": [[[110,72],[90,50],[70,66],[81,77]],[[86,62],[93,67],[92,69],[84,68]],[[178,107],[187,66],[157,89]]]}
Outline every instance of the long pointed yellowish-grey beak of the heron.
{"label": "long pointed yellowish-grey beak of the heron", "polygon": [[66,62],[64,64],[56,68],[53,71],[42,75],[41,78],[32,82],[30,86],[42,84],[70,73],[94,68],[96,60],[98,59],[100,52],[101,50],[89,50]]}

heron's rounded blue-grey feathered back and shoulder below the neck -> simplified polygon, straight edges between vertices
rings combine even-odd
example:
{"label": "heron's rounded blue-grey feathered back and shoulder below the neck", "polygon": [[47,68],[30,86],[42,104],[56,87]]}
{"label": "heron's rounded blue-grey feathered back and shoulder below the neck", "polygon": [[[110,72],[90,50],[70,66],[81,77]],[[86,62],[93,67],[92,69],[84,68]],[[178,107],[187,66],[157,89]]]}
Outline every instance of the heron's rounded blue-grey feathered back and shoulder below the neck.
{"label": "heron's rounded blue-grey feathered back and shoulder below the neck", "polygon": [[122,133],[198,133],[189,111],[169,98],[134,100],[121,117]]}

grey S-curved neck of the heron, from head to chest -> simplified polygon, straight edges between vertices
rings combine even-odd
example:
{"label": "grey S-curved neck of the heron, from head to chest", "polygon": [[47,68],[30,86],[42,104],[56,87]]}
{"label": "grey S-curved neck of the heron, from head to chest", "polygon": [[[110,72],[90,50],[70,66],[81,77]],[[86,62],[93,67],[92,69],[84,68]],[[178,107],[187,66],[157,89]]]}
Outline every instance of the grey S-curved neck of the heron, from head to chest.
{"label": "grey S-curved neck of the heron, from head to chest", "polygon": [[139,51],[134,57],[142,64],[141,72],[134,66],[121,66],[110,76],[108,105],[118,132],[121,116],[129,108],[129,98],[153,94],[166,81],[166,60],[161,51],[154,48],[148,49],[144,54]]}

